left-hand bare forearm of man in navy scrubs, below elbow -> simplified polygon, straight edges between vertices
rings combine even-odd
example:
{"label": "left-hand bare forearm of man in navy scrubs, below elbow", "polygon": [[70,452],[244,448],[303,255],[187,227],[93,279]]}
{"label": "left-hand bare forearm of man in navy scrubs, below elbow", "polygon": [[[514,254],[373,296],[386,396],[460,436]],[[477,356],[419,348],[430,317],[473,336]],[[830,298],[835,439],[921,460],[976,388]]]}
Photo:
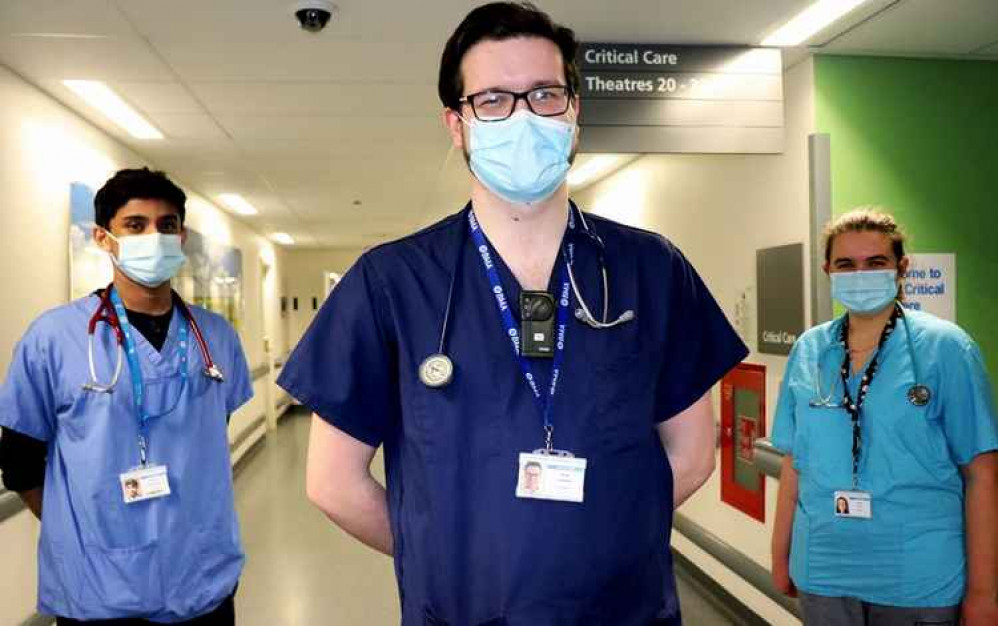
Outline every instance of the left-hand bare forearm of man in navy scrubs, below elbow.
{"label": "left-hand bare forearm of man in navy scrubs, below elbow", "polygon": [[378,552],[391,556],[393,542],[385,488],[373,477],[337,489],[327,486],[309,498],[337,526]]}

